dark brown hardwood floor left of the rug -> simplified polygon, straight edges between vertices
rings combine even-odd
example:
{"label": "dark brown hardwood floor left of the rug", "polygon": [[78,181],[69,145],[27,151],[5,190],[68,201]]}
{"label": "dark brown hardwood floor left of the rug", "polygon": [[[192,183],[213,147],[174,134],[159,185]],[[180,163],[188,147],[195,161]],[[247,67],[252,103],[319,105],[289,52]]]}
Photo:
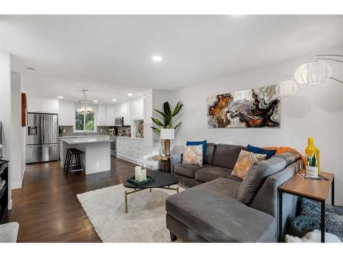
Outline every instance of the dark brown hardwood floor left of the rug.
{"label": "dark brown hardwood floor left of the rug", "polygon": [[76,195],[121,184],[134,166],[112,157],[111,171],[65,175],[59,162],[28,164],[5,222],[19,223],[18,242],[101,242]]}

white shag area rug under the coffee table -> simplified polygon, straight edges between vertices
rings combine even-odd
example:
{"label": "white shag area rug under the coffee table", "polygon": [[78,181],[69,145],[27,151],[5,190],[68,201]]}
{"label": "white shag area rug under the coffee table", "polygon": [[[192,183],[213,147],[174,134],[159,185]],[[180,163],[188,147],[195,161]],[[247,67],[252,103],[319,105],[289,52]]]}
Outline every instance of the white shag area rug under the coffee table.
{"label": "white shag area rug under the coffee table", "polygon": [[125,191],[133,189],[119,184],[77,195],[99,238],[104,243],[171,242],[165,227],[165,198],[176,191],[152,188],[128,195],[127,214]]}

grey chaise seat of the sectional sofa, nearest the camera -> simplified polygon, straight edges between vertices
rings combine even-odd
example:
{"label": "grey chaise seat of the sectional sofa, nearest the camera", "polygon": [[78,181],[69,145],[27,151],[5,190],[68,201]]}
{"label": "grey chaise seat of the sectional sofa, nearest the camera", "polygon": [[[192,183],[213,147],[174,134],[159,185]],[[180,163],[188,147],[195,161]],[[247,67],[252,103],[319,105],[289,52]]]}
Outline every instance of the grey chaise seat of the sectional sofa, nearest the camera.
{"label": "grey chaise seat of the sectional sofa, nearest the camera", "polygon": [[165,208],[209,242],[276,241],[274,217],[235,199],[238,188],[239,182],[217,178],[167,197]]}

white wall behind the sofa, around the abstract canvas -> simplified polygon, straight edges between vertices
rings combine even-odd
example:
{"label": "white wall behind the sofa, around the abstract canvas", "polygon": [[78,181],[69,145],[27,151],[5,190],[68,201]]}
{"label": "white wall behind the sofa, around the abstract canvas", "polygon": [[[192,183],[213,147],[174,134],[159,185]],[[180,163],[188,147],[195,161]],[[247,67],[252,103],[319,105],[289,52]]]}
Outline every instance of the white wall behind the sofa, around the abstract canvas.
{"label": "white wall behind the sofa, around the abstract canvas", "polygon": [[[320,53],[342,54],[343,46]],[[174,151],[182,151],[186,140],[206,139],[213,143],[259,147],[289,146],[303,153],[307,137],[313,136],[320,149],[322,171],[335,173],[335,204],[343,205],[343,84],[329,80],[319,86],[298,85],[294,97],[281,99],[281,128],[210,129],[206,122],[206,97],[277,84],[286,75],[293,75],[308,57],[320,53],[173,91],[171,102],[175,105],[181,100],[184,104]],[[329,64],[333,68],[332,77],[343,80],[343,64],[330,61]]]}

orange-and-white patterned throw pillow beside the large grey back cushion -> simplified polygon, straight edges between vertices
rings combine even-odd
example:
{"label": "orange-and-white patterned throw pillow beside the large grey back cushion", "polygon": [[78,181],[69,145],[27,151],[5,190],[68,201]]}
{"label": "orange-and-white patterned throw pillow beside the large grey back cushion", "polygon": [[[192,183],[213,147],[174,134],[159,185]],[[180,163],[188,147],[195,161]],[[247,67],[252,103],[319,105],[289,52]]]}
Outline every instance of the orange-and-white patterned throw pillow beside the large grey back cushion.
{"label": "orange-and-white patterned throw pillow beside the large grey back cushion", "polygon": [[250,166],[259,160],[265,160],[265,157],[265,154],[254,154],[250,151],[241,150],[235,167],[233,167],[232,175],[243,180]]}

